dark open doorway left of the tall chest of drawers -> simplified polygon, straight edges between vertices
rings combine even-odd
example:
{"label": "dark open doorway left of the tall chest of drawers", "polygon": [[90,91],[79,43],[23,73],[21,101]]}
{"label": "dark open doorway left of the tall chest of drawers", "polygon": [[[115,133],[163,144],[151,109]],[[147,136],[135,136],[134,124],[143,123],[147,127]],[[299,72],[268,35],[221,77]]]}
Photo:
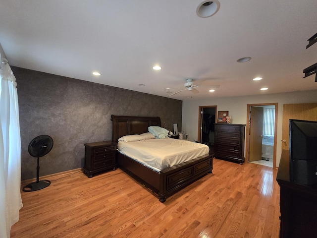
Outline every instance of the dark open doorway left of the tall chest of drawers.
{"label": "dark open doorway left of the tall chest of drawers", "polygon": [[216,121],[217,106],[199,107],[199,128],[198,139],[202,144],[208,145],[213,151],[214,144],[214,123]]}

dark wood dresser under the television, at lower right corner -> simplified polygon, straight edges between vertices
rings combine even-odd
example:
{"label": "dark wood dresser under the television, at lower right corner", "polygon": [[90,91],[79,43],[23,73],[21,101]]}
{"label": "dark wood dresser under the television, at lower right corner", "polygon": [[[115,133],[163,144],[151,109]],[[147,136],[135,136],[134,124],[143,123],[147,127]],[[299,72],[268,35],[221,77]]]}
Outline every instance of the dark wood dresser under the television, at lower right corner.
{"label": "dark wood dresser under the television, at lower right corner", "polygon": [[282,150],[276,180],[280,186],[280,238],[317,237],[317,186],[290,181],[289,151]]}

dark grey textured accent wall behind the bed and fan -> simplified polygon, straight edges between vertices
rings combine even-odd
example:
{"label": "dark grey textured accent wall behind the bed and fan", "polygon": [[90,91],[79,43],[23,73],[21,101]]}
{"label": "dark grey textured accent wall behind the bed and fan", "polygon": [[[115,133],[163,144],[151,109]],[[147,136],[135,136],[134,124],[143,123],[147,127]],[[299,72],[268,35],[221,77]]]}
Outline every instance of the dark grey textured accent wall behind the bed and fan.
{"label": "dark grey textured accent wall behind the bed and fan", "polygon": [[40,159],[40,176],[84,166],[84,143],[111,140],[111,115],[160,117],[167,129],[182,123],[182,101],[12,66],[16,77],[21,146],[21,179],[36,178],[28,153],[38,135],[53,138]]}

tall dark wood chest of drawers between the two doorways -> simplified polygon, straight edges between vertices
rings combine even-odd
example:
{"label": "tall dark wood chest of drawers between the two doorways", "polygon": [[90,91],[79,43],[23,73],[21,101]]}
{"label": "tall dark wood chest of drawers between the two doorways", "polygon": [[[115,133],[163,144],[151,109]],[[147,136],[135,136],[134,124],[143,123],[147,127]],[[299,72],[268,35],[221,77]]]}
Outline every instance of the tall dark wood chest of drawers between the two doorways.
{"label": "tall dark wood chest of drawers between the two doorways", "polygon": [[244,157],[244,124],[214,124],[214,158],[243,164]]}

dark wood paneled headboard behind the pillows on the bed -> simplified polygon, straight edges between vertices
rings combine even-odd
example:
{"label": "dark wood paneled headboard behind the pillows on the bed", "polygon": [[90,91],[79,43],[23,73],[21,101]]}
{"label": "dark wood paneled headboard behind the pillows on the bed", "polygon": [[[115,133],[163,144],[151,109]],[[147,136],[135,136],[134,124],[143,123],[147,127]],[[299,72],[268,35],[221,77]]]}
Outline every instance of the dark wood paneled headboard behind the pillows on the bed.
{"label": "dark wood paneled headboard behind the pillows on the bed", "polygon": [[150,125],[161,126],[159,117],[151,118],[111,115],[111,120],[112,141],[115,142],[124,135],[134,135],[148,132],[148,127]]}

